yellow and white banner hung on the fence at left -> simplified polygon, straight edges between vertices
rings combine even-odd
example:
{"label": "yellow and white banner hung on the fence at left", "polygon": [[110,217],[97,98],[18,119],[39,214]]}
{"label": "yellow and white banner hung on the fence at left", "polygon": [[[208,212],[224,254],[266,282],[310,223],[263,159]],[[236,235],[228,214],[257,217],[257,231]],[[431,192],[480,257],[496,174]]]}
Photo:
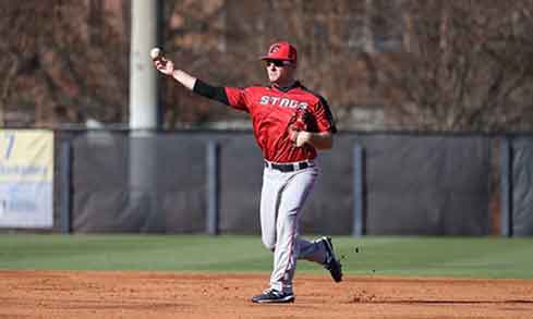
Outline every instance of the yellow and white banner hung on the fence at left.
{"label": "yellow and white banner hung on the fence at left", "polygon": [[53,132],[0,130],[0,226],[53,224]]}

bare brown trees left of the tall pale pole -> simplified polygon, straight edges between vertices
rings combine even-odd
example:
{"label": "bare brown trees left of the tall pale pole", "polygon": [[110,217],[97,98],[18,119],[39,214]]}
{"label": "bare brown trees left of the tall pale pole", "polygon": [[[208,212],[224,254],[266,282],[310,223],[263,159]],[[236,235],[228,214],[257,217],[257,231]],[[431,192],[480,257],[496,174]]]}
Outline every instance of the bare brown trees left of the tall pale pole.
{"label": "bare brown trees left of the tall pale pole", "polygon": [[101,0],[2,3],[0,53],[7,58],[0,66],[8,72],[0,83],[1,110],[26,106],[35,120],[22,124],[35,125],[64,109],[72,122],[80,113],[124,120],[128,44],[102,8]]}

